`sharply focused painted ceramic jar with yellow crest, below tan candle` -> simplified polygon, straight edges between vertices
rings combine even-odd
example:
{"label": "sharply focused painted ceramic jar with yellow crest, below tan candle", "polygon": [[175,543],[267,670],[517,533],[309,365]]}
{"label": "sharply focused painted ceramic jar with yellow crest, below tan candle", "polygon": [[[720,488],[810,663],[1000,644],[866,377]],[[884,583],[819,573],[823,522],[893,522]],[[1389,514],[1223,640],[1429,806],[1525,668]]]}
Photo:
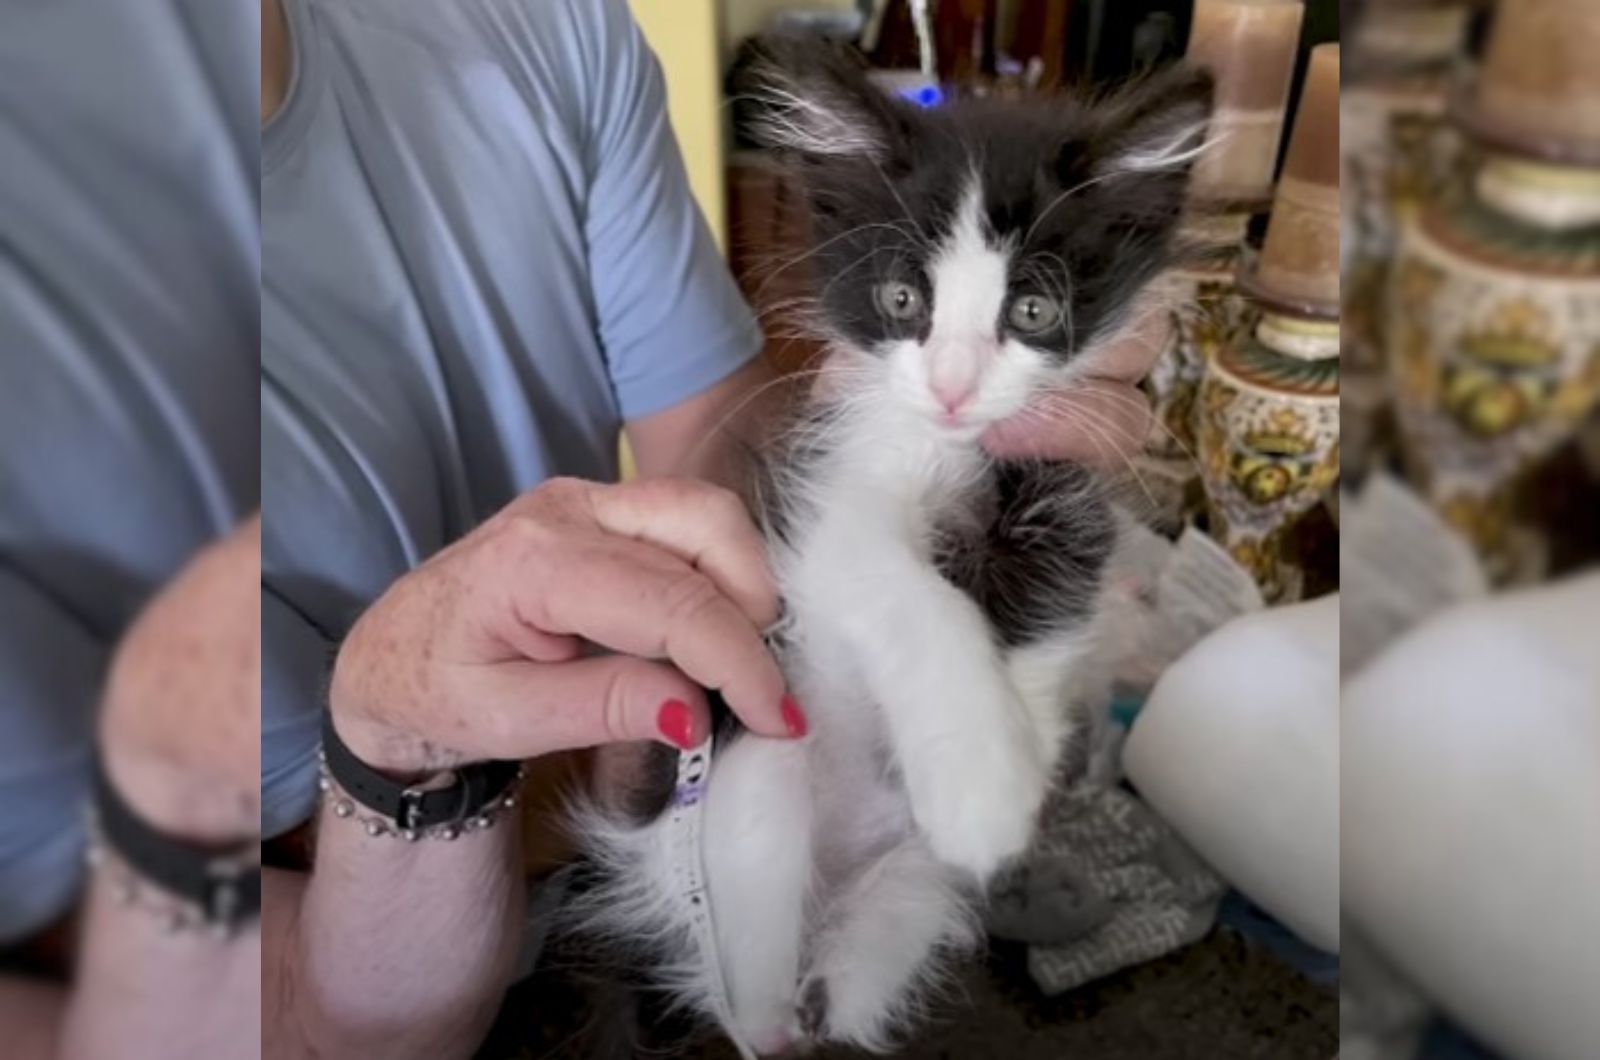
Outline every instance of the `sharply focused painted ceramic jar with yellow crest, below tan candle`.
{"label": "sharply focused painted ceramic jar with yellow crest, below tan candle", "polygon": [[1211,536],[1274,604],[1299,599],[1293,532],[1339,477],[1339,325],[1267,312],[1206,365],[1200,463]]}

